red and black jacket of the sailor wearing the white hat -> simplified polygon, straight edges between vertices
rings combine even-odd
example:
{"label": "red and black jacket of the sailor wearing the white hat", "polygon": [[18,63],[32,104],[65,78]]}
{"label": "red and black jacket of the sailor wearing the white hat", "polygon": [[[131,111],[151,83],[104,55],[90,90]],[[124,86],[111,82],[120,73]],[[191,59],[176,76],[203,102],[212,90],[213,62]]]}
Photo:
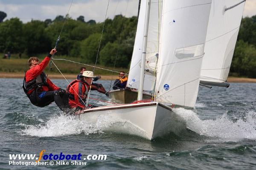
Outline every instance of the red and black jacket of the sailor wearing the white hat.
{"label": "red and black jacket of the sailor wearing the white hat", "polygon": [[90,89],[90,85],[87,82],[75,79],[70,85],[67,86],[67,92],[69,93],[68,103],[70,108],[85,108],[87,93]]}

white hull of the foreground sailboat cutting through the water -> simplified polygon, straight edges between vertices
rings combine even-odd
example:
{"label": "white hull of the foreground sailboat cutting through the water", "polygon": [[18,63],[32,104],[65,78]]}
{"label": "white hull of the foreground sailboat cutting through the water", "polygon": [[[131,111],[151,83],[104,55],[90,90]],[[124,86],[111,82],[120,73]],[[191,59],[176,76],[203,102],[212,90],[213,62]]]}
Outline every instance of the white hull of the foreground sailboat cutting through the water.
{"label": "white hull of the foreground sailboat cutting through the water", "polygon": [[172,108],[159,102],[102,106],[86,109],[77,116],[81,121],[92,123],[96,123],[99,116],[110,116],[136,128],[118,124],[105,131],[137,135],[149,140],[169,132],[179,133],[186,128]]}

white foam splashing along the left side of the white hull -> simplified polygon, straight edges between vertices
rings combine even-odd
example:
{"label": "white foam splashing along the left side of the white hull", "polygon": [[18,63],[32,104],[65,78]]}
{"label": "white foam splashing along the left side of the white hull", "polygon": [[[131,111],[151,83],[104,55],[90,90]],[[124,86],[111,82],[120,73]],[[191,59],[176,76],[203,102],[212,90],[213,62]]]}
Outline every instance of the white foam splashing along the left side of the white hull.
{"label": "white foam splashing along the left side of the white hull", "polygon": [[128,133],[146,136],[145,131],[133,125],[131,122],[116,119],[113,116],[98,116],[96,122],[90,120],[81,121],[75,116],[53,116],[46,123],[40,125],[26,125],[22,130],[23,135],[29,136],[66,136],[84,133],[104,132]]}

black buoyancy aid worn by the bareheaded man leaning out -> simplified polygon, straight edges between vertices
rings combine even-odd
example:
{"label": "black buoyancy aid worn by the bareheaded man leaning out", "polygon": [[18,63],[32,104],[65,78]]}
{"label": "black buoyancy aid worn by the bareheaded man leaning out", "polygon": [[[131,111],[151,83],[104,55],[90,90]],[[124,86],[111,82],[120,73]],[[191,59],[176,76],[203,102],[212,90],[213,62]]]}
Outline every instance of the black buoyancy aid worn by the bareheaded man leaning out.
{"label": "black buoyancy aid worn by the bareheaded man leaning out", "polygon": [[25,94],[30,98],[30,94],[32,91],[39,90],[38,88],[41,88],[42,86],[48,86],[47,84],[47,76],[44,72],[39,74],[35,79],[32,79],[29,82],[26,82],[26,73],[23,80],[23,91]]}

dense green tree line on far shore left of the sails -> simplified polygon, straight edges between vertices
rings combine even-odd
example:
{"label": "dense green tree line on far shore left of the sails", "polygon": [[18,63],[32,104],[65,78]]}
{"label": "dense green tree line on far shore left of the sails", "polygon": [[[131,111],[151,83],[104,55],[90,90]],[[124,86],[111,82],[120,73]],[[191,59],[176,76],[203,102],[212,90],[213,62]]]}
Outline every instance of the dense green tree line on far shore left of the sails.
{"label": "dense green tree line on far shore left of the sails", "polygon": [[98,62],[101,65],[113,67],[113,63],[116,62],[115,66],[122,68],[127,68],[131,61],[137,28],[137,17],[127,18],[122,15],[105,20],[103,34],[103,22],[96,23],[95,20],[86,22],[83,16],[74,20],[69,16],[59,15],[54,20],[31,20],[22,23],[17,17],[3,22],[0,13],[0,21],[2,21],[0,22],[2,53],[22,52],[28,56],[47,54],[55,47],[55,42],[61,33],[58,55],[81,57],[86,63],[95,63],[98,55]]}

